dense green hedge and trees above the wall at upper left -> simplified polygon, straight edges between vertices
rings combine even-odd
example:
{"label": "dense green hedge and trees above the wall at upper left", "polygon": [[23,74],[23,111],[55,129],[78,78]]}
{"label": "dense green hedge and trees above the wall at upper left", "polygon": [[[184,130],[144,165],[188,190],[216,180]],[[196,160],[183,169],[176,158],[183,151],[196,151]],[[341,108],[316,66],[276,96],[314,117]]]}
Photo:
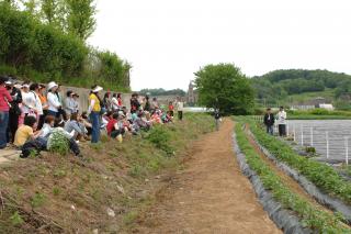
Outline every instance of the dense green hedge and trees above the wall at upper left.
{"label": "dense green hedge and trees above the wall at upper left", "polygon": [[[114,53],[99,52],[84,43],[92,32],[91,21],[94,19],[93,14],[86,19],[88,5],[79,5],[88,3],[91,11],[95,11],[92,0],[41,0],[38,5],[44,12],[39,14],[44,16],[37,16],[31,13],[32,10],[21,11],[0,1],[0,73],[38,82],[55,79],[65,85],[89,88],[99,82],[109,89],[128,90],[131,65]],[[61,14],[68,18],[75,30],[60,25]]]}

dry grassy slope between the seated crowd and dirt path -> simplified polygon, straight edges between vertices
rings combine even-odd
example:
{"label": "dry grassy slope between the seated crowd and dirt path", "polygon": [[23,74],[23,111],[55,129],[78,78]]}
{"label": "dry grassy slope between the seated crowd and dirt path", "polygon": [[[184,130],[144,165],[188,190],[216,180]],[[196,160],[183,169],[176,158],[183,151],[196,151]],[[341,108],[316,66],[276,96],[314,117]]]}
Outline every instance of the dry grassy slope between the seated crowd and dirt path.
{"label": "dry grassy slope between the seated crowd and dirt path", "polygon": [[[152,203],[156,176],[180,167],[190,142],[213,127],[210,115],[186,114],[183,123],[156,130],[163,138],[154,134],[123,144],[107,138],[87,144],[86,166],[70,155],[45,155],[3,168],[0,233],[129,232],[138,212]],[[176,156],[160,148],[174,149]],[[115,218],[107,215],[109,208]]]}

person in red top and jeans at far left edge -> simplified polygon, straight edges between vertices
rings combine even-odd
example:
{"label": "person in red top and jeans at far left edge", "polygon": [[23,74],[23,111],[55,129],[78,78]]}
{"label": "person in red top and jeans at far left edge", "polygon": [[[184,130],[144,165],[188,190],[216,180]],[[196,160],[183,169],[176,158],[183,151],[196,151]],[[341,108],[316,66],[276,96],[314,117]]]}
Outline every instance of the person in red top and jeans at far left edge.
{"label": "person in red top and jeans at far left edge", "polygon": [[12,97],[5,88],[7,77],[0,76],[0,148],[7,147],[7,130],[9,123],[10,102]]}

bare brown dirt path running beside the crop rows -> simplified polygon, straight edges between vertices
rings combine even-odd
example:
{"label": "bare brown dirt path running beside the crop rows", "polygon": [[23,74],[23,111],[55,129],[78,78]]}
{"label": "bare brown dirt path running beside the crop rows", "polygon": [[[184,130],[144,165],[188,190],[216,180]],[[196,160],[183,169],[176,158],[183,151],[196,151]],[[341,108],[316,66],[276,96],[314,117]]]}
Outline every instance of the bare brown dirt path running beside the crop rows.
{"label": "bare brown dirt path running beside the crop rows", "polygon": [[185,169],[159,193],[139,233],[281,233],[241,175],[231,149],[233,122],[194,144]]}

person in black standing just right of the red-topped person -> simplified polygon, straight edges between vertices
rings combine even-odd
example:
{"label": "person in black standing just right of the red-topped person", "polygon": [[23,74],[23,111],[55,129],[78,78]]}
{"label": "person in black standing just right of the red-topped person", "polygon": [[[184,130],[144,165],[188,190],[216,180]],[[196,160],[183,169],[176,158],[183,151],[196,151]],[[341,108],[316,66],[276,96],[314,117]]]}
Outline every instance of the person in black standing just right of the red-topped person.
{"label": "person in black standing just right of the red-topped person", "polygon": [[8,142],[13,143],[15,132],[19,129],[19,118],[21,115],[20,103],[22,103],[21,90],[15,87],[13,80],[5,82],[7,89],[10,92],[12,101],[10,102],[9,125],[8,125]]}

